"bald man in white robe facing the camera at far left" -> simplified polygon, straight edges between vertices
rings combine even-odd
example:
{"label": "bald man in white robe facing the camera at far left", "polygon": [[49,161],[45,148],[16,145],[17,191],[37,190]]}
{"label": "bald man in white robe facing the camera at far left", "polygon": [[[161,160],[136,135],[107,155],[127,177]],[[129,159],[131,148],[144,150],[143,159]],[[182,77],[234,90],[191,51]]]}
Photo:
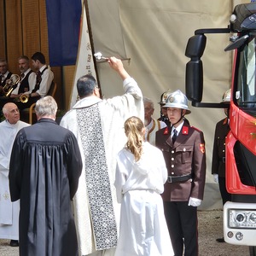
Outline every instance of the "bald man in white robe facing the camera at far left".
{"label": "bald man in white robe facing the camera at far left", "polygon": [[18,131],[28,126],[20,121],[15,103],[3,106],[5,120],[0,123],[0,239],[10,239],[18,246],[20,201],[11,202],[9,194],[9,159]]}

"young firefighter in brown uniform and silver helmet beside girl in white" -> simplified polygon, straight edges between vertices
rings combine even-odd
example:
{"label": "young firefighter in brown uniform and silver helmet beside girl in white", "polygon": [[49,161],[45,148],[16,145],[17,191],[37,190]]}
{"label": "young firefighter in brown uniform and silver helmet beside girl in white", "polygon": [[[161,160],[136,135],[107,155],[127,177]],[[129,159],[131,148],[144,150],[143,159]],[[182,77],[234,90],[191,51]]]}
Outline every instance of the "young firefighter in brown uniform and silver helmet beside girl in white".
{"label": "young firefighter in brown uniform and silver helmet beside girl in white", "polygon": [[205,141],[202,131],[184,120],[190,113],[180,90],[166,98],[171,128],[156,132],[156,146],[166,160],[168,179],[162,194],[166,222],[175,256],[198,255],[197,207],[203,199],[206,179]]}

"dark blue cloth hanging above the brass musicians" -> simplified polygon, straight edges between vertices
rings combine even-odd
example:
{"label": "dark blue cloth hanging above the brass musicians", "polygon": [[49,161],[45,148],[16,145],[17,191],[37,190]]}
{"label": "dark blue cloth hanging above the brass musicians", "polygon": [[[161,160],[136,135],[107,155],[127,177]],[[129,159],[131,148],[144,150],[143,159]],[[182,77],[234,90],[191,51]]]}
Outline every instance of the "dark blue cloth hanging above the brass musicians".
{"label": "dark blue cloth hanging above the brass musicians", "polygon": [[51,67],[76,63],[81,11],[81,0],[46,0]]}

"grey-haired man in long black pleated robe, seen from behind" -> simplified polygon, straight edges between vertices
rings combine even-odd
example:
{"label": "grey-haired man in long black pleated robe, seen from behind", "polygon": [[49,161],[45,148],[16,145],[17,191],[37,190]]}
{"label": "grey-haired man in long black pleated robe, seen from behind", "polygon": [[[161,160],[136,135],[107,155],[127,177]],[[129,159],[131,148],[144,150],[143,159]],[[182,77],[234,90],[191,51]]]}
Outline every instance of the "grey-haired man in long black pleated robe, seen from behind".
{"label": "grey-haired man in long black pleated robe, seen from behind", "polygon": [[36,104],[38,122],[15,137],[9,166],[11,200],[20,199],[20,256],[76,256],[71,200],[82,160],[72,131],[55,123],[57,104]]}

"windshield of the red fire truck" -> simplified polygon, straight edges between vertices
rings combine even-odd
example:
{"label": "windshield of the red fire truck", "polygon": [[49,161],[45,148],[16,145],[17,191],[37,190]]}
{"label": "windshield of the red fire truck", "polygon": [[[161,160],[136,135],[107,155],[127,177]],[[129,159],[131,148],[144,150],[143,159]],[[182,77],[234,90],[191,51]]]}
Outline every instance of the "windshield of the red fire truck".
{"label": "windshield of the red fire truck", "polygon": [[256,33],[237,49],[234,102],[248,114],[256,115]]}

